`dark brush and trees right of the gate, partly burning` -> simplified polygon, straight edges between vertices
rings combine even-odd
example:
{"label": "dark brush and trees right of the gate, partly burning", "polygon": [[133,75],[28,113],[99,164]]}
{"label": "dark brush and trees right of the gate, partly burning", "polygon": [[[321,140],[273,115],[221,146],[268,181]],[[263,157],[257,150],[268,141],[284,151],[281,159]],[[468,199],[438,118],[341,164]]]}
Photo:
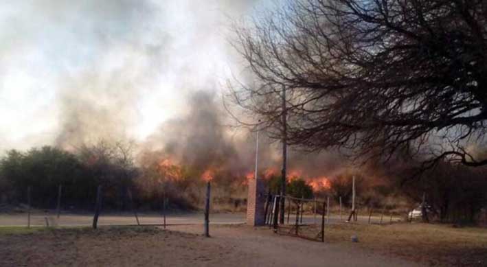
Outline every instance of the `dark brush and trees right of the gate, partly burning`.
{"label": "dark brush and trees right of the gate, partly burning", "polygon": [[[414,163],[393,163],[374,175],[345,172],[331,180],[328,194],[350,207],[352,176],[356,176],[360,209],[415,209],[423,198],[429,221],[487,222],[487,168],[448,162],[422,170]],[[378,172],[378,171],[376,171]],[[407,213],[404,213],[404,215]]]}

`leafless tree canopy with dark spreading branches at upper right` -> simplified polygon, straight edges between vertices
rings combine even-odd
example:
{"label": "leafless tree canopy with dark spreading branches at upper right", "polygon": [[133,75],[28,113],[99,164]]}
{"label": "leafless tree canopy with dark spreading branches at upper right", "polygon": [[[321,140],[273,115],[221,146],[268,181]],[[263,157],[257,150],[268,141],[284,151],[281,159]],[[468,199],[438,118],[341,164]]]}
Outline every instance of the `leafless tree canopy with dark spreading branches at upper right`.
{"label": "leafless tree canopy with dark spreading branches at upper right", "polygon": [[[236,27],[256,77],[234,101],[288,143],[375,156],[398,148],[486,165],[487,2],[304,0]],[[276,137],[280,130],[275,131]]]}

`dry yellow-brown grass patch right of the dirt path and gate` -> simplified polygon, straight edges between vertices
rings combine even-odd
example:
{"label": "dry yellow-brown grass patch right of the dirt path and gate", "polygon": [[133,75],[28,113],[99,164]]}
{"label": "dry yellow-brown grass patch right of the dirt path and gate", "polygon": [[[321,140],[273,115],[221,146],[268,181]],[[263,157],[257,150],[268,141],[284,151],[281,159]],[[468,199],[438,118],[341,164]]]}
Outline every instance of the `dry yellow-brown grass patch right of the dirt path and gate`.
{"label": "dry yellow-brown grass patch right of the dirt path and gate", "polygon": [[[315,237],[316,227],[302,227],[302,235]],[[359,243],[350,242],[352,235]],[[454,228],[446,224],[332,224],[325,242],[359,246],[429,266],[487,266],[487,229]]]}

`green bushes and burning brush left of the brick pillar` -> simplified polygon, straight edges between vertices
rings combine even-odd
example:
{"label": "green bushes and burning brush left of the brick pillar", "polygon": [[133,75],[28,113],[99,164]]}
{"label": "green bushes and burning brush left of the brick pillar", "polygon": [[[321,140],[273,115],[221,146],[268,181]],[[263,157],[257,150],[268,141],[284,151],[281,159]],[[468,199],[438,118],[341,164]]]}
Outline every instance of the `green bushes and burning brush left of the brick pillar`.
{"label": "green bushes and burning brush left of the brick pillar", "polygon": [[[50,146],[27,152],[10,150],[0,159],[0,203],[27,203],[27,187],[31,187],[33,207],[52,209],[62,185],[64,209],[93,209],[101,185],[104,209],[126,210],[131,205],[159,209],[163,198],[169,198],[174,209],[199,205],[204,188],[199,176],[178,168],[178,177],[174,177],[170,173],[174,167],[161,167],[153,155],[136,166],[131,150],[128,144],[106,142],[75,152]],[[224,191],[234,192],[231,188]]]}

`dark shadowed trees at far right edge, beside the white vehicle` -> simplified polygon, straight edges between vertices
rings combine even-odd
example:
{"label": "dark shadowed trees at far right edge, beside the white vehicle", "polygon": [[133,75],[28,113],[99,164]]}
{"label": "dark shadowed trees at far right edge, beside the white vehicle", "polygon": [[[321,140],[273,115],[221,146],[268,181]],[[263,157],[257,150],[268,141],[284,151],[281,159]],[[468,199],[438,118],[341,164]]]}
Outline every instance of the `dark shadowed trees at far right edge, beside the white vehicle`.
{"label": "dark shadowed trees at far right edge, beside the white vehicle", "polygon": [[442,162],[416,177],[403,174],[396,185],[410,200],[425,196],[431,216],[442,222],[487,222],[487,168]]}

